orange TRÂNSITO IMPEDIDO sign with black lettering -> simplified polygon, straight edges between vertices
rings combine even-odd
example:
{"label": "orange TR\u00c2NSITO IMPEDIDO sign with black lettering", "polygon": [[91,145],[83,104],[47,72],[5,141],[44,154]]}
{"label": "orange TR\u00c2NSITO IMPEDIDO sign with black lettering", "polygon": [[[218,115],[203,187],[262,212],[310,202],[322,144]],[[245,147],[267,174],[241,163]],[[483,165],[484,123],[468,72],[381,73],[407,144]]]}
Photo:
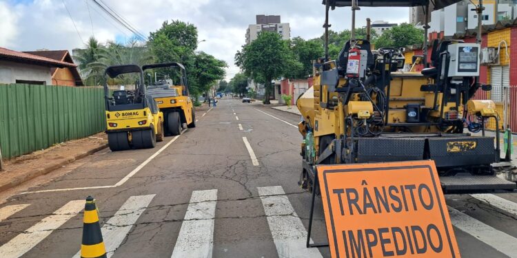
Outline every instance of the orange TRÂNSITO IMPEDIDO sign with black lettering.
{"label": "orange TR\u00c2NSITO IMPEDIDO sign with black lettering", "polygon": [[332,257],[460,257],[434,161],[317,173]]}

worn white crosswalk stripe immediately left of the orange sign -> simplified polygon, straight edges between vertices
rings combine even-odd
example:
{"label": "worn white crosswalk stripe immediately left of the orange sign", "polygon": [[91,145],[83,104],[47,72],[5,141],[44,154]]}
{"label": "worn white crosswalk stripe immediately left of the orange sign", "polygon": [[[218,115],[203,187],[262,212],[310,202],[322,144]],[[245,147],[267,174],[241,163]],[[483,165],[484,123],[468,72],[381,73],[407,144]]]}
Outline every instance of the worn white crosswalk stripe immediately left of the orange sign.
{"label": "worn white crosswalk stripe immediately left of the orange sign", "polygon": [[282,186],[258,187],[278,257],[322,257],[318,248],[307,248],[307,230],[296,215]]}

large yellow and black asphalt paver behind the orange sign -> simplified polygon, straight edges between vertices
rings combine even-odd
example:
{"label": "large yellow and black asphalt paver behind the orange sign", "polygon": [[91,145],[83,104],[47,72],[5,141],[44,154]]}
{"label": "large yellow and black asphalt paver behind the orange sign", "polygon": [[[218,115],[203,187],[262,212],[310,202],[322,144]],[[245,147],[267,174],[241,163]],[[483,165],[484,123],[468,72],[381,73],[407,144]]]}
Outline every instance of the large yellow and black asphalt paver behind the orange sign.
{"label": "large yellow and black asphalt paver behind the orange sign", "polygon": [[[434,1],[436,9],[456,2]],[[500,158],[495,105],[472,99],[476,91],[491,89],[479,82],[480,34],[478,43],[434,41],[430,63],[426,39],[421,73],[398,72],[405,63],[401,50],[372,50],[369,39],[355,39],[354,33],[337,60],[330,60],[330,10],[351,7],[354,31],[355,13],[361,7],[421,6],[429,15],[429,0],[323,0],[323,4],[325,58],[314,64],[314,86],[297,100],[303,116],[298,125],[303,135],[298,184],[312,191],[316,165],[434,160],[446,193],[516,188],[514,182],[496,175],[513,167],[496,166],[510,163],[509,155]],[[425,35],[427,28],[426,24]],[[495,139],[485,135],[488,120],[497,124]]]}

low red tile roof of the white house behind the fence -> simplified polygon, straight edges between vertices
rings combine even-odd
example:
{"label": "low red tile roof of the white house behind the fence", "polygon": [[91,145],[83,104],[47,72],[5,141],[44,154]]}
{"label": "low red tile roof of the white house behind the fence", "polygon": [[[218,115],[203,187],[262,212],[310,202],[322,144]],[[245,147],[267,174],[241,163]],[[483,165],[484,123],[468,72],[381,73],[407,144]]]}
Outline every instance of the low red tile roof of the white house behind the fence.
{"label": "low red tile roof of the white house behind the fence", "polygon": [[77,67],[74,63],[66,63],[57,61],[52,58],[46,58],[43,56],[36,56],[34,54],[28,54],[23,52],[17,52],[14,50],[8,50],[7,48],[0,47],[0,61],[14,61],[20,63],[29,63],[33,65],[43,65],[48,67]]}

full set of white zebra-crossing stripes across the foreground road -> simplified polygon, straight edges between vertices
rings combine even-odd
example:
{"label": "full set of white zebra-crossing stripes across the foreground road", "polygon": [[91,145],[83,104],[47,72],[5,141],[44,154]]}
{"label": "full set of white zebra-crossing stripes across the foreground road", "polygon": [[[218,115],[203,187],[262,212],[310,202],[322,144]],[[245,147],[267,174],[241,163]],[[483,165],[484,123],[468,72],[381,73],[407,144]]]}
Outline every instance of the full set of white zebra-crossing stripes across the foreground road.
{"label": "full set of white zebra-crossing stripes across the foreground road", "polygon": [[[298,217],[282,186],[258,187],[267,224],[279,257],[322,257],[317,248],[306,248],[307,231]],[[217,202],[216,189],[193,191],[183,219],[172,258],[212,257],[214,222]],[[108,257],[114,255],[131,228],[143,215],[155,195],[131,196],[103,225]],[[473,194],[472,197],[501,211],[517,215],[517,203],[493,194]],[[0,222],[22,211],[30,204],[15,204],[0,208]],[[84,207],[83,200],[70,201],[51,215],[41,219],[23,233],[0,246],[0,257],[21,257],[43,239],[78,215]],[[472,235],[508,257],[517,258],[517,237],[498,230],[458,209],[447,206],[456,230]],[[78,252],[74,258],[80,257]]]}

